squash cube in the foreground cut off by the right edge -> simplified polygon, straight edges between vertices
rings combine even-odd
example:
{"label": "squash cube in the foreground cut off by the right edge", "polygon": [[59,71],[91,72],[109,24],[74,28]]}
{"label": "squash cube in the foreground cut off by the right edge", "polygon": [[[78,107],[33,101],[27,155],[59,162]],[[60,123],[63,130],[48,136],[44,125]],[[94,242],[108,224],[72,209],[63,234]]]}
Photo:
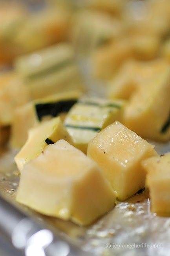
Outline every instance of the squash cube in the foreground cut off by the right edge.
{"label": "squash cube in the foreground cut off by the right edge", "polygon": [[170,216],[170,153],[148,158],[142,164],[147,172],[151,211]]}

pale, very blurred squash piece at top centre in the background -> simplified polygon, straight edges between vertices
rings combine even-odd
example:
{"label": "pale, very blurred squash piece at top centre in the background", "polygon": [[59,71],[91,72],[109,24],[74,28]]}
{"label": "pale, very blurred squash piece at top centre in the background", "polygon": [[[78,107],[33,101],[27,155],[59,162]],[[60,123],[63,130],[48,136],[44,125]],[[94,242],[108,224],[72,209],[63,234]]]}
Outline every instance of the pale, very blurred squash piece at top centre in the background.
{"label": "pale, very blurred squash piece at top centre in the background", "polygon": [[80,54],[89,54],[95,48],[107,45],[121,32],[122,24],[119,19],[100,11],[86,9],[73,16],[70,37]]}

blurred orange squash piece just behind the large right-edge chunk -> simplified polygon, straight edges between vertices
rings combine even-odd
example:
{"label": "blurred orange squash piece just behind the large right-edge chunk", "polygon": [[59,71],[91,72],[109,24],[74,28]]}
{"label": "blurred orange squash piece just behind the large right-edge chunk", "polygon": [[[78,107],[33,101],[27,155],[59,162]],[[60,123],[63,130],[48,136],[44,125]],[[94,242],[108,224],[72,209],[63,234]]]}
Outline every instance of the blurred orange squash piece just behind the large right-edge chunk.
{"label": "blurred orange squash piece just behind the large right-edge chunk", "polygon": [[129,99],[141,82],[155,76],[158,72],[165,69],[168,62],[163,59],[156,59],[154,61],[126,61],[119,72],[110,81],[107,89],[108,98],[122,98]]}

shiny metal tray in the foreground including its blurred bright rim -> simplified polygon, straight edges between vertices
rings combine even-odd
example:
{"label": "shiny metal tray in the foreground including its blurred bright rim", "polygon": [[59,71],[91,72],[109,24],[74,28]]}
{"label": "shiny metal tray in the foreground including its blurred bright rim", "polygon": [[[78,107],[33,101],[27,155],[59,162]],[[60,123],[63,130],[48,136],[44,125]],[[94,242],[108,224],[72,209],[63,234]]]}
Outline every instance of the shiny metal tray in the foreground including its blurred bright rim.
{"label": "shiny metal tray in the foreground including its blurred bright rim", "polygon": [[[170,151],[170,143],[153,144],[159,154]],[[7,212],[3,212],[4,206],[0,204],[0,226],[6,233],[10,233],[15,248],[24,250],[26,256],[82,256],[84,251],[87,255],[92,253],[101,256],[170,255],[170,218],[150,212],[148,191],[126,202],[119,202],[93,225],[79,227],[71,222],[40,215],[15,202],[19,182],[19,173],[13,160],[15,154],[15,150],[6,149],[1,155],[0,195],[12,202],[24,215],[14,221],[13,208],[8,206]],[[55,239],[49,247],[53,236],[62,242]]]}

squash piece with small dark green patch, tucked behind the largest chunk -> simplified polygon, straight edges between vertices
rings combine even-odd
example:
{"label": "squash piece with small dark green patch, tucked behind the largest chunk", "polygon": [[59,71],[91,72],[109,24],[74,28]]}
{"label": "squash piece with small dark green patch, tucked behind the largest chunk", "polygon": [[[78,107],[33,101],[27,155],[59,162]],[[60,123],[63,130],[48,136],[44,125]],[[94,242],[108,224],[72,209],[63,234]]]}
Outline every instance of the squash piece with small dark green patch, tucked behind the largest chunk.
{"label": "squash piece with small dark green patch, tucked behind the largest chunk", "polygon": [[45,121],[39,126],[30,129],[25,145],[14,158],[18,169],[22,171],[25,163],[36,158],[47,145],[56,143],[59,139],[71,142],[71,138],[60,117]]}

